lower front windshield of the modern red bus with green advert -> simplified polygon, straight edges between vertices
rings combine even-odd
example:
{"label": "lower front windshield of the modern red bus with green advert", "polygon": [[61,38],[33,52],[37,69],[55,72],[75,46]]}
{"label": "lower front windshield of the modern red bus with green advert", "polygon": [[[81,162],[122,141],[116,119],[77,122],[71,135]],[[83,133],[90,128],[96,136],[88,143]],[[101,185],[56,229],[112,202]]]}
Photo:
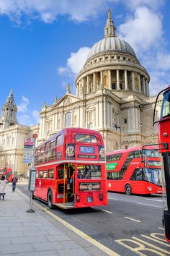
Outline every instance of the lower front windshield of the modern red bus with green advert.
{"label": "lower front windshield of the modern red bus with green advert", "polygon": [[146,182],[151,182],[158,186],[162,185],[161,181],[161,168],[144,168],[143,176]]}

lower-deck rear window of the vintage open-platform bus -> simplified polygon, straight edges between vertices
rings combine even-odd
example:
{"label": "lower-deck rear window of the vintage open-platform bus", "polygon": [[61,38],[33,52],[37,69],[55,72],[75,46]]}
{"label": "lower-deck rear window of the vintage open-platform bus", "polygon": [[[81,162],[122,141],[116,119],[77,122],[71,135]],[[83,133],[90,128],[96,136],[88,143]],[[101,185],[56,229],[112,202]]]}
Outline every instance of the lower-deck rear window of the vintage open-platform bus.
{"label": "lower-deck rear window of the vintage open-platform bus", "polygon": [[77,179],[101,179],[101,166],[99,165],[77,166]]}

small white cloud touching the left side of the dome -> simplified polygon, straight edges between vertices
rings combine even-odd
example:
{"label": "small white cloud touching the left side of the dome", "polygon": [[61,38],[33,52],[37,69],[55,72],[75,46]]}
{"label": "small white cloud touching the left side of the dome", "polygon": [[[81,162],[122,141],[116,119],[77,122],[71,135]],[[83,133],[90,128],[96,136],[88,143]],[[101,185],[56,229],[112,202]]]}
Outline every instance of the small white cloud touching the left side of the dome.
{"label": "small white cloud touching the left side of the dome", "polygon": [[66,61],[66,67],[58,67],[58,74],[78,74],[84,67],[89,51],[89,47],[81,47],[76,53],[71,53],[71,57]]}

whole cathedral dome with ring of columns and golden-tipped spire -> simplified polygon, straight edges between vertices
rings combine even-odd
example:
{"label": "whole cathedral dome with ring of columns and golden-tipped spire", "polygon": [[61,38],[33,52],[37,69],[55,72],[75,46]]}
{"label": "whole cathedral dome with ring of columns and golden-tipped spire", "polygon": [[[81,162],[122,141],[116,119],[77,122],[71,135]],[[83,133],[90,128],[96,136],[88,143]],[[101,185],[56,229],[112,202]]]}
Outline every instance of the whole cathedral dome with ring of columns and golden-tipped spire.
{"label": "whole cathedral dome with ring of columns and golden-tipped spire", "polygon": [[148,96],[149,80],[148,72],[140,65],[130,44],[117,38],[109,11],[104,39],[91,48],[84,68],[76,77],[77,95],[90,93],[103,86],[120,97],[125,95],[125,91]]}

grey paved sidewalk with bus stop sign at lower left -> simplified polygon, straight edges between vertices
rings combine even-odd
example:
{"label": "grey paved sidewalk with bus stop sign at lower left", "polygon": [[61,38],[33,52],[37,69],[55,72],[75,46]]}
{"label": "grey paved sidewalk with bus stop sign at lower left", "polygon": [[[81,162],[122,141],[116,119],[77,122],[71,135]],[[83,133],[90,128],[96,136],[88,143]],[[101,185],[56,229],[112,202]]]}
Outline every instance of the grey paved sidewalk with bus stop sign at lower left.
{"label": "grey paved sidewalk with bus stop sign at lower left", "polygon": [[0,201],[0,255],[6,256],[88,256],[105,254],[33,204],[35,213],[27,213],[30,199],[11,184]]}

